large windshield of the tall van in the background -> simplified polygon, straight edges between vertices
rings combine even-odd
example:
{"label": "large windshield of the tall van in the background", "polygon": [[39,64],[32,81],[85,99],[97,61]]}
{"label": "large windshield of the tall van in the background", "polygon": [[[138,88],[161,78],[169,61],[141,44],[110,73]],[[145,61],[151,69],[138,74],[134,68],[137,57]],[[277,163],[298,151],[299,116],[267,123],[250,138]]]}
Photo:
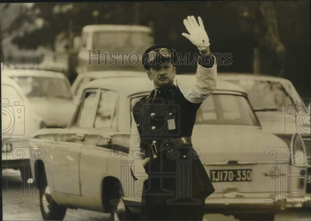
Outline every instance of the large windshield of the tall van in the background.
{"label": "large windshield of the tall van in the background", "polygon": [[153,44],[151,33],[139,31],[103,31],[94,33],[94,49],[104,53],[143,53]]}

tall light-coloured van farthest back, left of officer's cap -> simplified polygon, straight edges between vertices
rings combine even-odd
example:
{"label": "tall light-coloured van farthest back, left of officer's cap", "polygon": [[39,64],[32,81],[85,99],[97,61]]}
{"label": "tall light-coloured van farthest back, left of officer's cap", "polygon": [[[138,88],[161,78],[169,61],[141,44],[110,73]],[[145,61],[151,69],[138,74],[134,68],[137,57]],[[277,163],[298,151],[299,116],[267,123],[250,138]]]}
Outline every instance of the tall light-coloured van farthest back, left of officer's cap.
{"label": "tall light-coloured van farthest back, left of officer's cap", "polygon": [[[86,25],[82,29],[81,39],[74,42],[79,42],[76,46],[79,51],[78,73],[99,70],[143,71],[141,53],[154,45],[152,29],[141,25]],[[118,53],[124,54],[119,56]]]}

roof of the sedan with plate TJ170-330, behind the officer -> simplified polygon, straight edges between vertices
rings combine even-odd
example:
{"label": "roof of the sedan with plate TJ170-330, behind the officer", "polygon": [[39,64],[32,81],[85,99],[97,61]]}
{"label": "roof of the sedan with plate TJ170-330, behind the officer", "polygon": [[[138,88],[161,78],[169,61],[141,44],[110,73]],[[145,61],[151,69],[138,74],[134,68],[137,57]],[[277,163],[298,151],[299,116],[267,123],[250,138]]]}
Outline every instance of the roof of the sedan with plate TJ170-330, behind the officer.
{"label": "roof of the sedan with plate TJ170-330, behind the officer", "polygon": [[[185,83],[190,84],[189,82],[193,82],[194,77],[195,75],[176,75],[177,83],[182,82],[183,85]],[[153,83],[147,78],[147,76],[122,77],[94,80],[87,83],[84,86],[84,89],[86,88],[104,88],[132,95],[142,92],[150,92],[153,88]],[[246,94],[241,87],[225,81],[217,81],[217,90],[234,91]]]}

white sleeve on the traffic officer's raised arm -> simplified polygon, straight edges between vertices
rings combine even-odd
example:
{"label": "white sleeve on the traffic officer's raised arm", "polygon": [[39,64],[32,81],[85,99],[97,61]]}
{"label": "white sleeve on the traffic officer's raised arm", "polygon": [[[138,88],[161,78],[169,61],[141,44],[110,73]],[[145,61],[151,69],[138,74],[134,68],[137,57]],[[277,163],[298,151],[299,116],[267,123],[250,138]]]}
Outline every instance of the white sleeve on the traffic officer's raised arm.
{"label": "white sleeve on the traffic officer's raised arm", "polygon": [[178,81],[178,87],[188,101],[200,103],[216,90],[216,78],[216,61],[211,68],[205,68],[198,64],[192,86],[184,86],[183,82]]}

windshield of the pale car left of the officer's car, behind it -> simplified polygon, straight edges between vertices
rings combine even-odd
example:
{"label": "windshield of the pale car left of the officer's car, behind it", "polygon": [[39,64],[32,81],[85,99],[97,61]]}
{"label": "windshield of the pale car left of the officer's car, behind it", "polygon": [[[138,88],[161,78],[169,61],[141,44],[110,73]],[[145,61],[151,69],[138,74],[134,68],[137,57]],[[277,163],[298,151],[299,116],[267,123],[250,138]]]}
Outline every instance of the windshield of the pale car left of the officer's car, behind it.
{"label": "windshield of the pale car left of the officer's car, behind it", "polygon": [[12,79],[20,86],[26,97],[72,99],[63,79],[34,76],[13,76]]}

